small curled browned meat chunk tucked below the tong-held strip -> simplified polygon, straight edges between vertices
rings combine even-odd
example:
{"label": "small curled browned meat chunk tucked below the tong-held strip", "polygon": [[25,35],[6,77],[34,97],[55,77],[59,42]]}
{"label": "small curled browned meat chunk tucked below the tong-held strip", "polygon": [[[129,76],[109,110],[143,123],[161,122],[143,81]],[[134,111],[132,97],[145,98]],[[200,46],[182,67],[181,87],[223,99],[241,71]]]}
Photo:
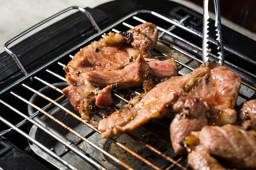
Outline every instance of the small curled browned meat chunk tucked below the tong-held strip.
{"label": "small curled browned meat chunk tucked below the tong-held strip", "polygon": [[207,108],[197,97],[191,95],[180,96],[173,104],[172,113],[175,118],[171,122],[171,142],[176,154],[186,154],[183,146],[185,137],[192,131],[200,131],[202,127],[208,125]]}

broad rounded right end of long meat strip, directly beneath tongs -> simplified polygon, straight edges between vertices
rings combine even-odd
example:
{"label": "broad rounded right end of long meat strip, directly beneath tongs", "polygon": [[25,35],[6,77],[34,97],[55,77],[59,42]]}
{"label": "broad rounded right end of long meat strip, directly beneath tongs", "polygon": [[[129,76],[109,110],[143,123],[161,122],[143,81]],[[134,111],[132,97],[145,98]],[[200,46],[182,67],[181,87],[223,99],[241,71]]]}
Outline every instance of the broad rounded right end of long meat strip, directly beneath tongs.
{"label": "broad rounded right end of long meat strip, directly beneath tongs", "polygon": [[200,97],[202,101],[225,110],[236,106],[240,85],[239,75],[224,66],[217,66],[186,88],[190,88],[189,93]]}

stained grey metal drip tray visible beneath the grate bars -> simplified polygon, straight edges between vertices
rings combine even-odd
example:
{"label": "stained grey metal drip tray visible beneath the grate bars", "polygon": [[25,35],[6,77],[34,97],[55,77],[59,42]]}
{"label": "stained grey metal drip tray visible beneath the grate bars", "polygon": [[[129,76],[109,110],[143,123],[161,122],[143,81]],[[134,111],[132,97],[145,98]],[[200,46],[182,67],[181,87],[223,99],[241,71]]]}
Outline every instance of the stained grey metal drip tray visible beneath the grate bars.
{"label": "stained grey metal drip tray visible beneath the grate bars", "polygon": [[[65,99],[61,105],[69,108],[70,110],[73,110],[73,107],[71,106],[70,102]],[[76,132],[79,132],[81,135],[85,136],[88,140],[90,140],[92,143],[98,145],[100,148],[103,148],[103,150],[106,150],[111,155],[117,157],[117,159],[124,161],[126,163],[130,163],[130,166],[135,166],[133,168],[140,169],[140,170],[148,170],[148,166],[145,166],[143,162],[138,160],[136,157],[133,157],[129,153],[127,153],[125,150],[121,149],[116,144],[112,143],[109,140],[101,139],[100,135],[97,132],[94,132],[91,128],[84,125],[80,121],[77,121],[70,115],[66,115],[65,111],[59,109],[58,107],[53,108],[48,113],[50,113],[52,116],[56,117],[56,119],[59,119],[64,124],[67,124],[69,127],[74,129]],[[92,119],[97,119],[97,116],[92,115]],[[170,118],[171,119],[171,118]],[[41,120],[47,124],[46,126],[51,127],[54,130],[57,130],[59,133],[63,135],[63,137],[66,137],[70,141],[74,141],[76,144],[78,144],[79,148],[84,150],[86,153],[88,153],[91,157],[94,157],[99,163],[101,163],[105,168],[107,169],[122,169],[123,167],[119,166],[115,161],[112,159],[106,157],[101,153],[99,150],[95,149],[91,145],[87,144],[85,141],[81,141],[78,137],[73,135],[68,130],[65,130],[65,128],[59,126],[58,124],[54,123],[54,121],[50,120],[45,115],[41,117]],[[41,122],[42,123],[42,122]],[[161,133],[166,134],[166,137],[169,136],[169,132],[167,128],[161,128],[157,122],[149,122],[146,126],[148,127],[154,127],[155,132],[161,131]],[[166,131],[163,131],[166,130]],[[166,153],[167,155],[174,157],[173,149],[171,148],[171,143],[166,144],[166,142],[163,142],[161,139],[155,137],[154,135],[151,135],[147,130],[144,130],[143,128],[138,128],[134,132],[132,132],[132,135],[135,135],[137,137],[140,137],[142,140],[145,139],[147,144],[150,146],[153,146],[154,148],[161,148],[161,152]],[[52,137],[50,137],[46,132],[38,128],[37,126],[32,126],[29,136],[33,137],[37,141],[39,141],[41,144],[47,146],[47,148],[52,148],[56,152],[57,155],[61,155],[61,157],[66,160],[67,162],[72,162],[72,165],[75,166],[77,169],[86,169],[90,170],[93,169],[92,166],[90,166],[88,163],[86,163],[83,159],[78,157],[76,154],[74,154],[72,151],[68,151],[65,146],[60,144],[60,142],[56,141]],[[153,153],[152,151],[148,150],[144,145],[139,144],[135,140],[131,140],[130,137],[126,134],[119,135],[115,137],[115,140],[119,141],[121,144],[124,144],[128,148],[132,148],[132,150],[141,155],[142,157],[146,158],[150,162],[157,163],[156,165],[162,168],[168,167],[170,163],[168,163],[166,160],[164,160],[160,155],[157,155]],[[51,156],[49,156],[47,153],[45,153],[43,150],[41,150],[38,146],[35,144],[30,144],[31,149],[40,157],[43,159],[49,161],[54,166],[61,170],[67,170],[68,168],[63,166],[62,163],[59,163],[56,161],[56,159],[53,159]],[[53,149],[54,148],[54,149]],[[115,165],[115,167],[113,167]]]}

